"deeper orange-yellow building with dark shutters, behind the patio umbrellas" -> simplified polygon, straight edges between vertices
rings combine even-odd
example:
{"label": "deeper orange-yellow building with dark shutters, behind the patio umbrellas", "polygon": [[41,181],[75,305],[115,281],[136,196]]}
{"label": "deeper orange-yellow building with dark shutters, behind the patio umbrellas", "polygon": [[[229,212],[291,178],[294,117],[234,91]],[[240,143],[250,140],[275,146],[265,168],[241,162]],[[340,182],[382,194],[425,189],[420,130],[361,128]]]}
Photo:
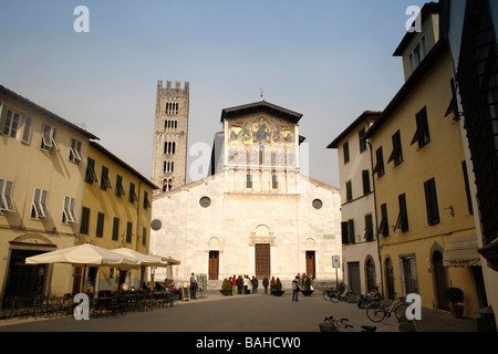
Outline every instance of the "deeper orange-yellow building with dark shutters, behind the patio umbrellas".
{"label": "deeper orange-yellow building with dark shutters, behind the patio umbrellas", "polygon": [[[147,254],[152,195],[157,187],[95,142],[90,143],[83,178],[80,243],[90,242],[105,249],[125,247]],[[97,272],[97,268],[89,270],[92,284]],[[75,287],[80,284],[79,277],[81,269],[76,272]],[[102,268],[98,289],[115,290],[125,281],[137,289],[143,277],[144,270]]]}

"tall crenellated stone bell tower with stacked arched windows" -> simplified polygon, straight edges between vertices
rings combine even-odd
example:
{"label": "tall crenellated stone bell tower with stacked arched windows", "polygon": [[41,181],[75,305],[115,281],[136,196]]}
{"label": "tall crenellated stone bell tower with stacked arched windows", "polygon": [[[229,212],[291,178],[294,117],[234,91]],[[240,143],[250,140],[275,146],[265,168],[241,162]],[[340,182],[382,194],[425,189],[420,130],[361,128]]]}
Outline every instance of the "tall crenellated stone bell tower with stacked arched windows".
{"label": "tall crenellated stone bell tower with stacked arched windows", "polygon": [[186,184],[189,83],[157,81],[152,181],[159,191]]}

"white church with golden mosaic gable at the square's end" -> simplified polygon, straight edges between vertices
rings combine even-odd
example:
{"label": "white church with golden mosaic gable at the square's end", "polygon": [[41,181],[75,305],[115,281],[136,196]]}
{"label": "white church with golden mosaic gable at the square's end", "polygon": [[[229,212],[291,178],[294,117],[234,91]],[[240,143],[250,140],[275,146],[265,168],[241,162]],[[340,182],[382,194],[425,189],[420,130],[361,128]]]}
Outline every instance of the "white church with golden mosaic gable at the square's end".
{"label": "white church with golden mosaic gable at the square's end", "polygon": [[151,253],[181,262],[175,281],[193,272],[335,281],[340,194],[300,174],[301,117],[264,101],[222,110],[212,175],[154,196]]}

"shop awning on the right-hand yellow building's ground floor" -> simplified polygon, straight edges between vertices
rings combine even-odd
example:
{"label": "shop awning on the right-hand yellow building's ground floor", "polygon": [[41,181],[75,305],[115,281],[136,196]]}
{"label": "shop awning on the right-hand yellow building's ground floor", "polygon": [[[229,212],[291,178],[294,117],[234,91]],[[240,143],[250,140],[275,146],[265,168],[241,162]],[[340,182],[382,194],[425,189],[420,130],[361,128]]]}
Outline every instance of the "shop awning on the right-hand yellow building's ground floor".
{"label": "shop awning on the right-hand yellow building's ground floor", "polygon": [[476,235],[463,236],[449,242],[443,253],[443,266],[480,266],[480,257],[479,253],[477,253]]}

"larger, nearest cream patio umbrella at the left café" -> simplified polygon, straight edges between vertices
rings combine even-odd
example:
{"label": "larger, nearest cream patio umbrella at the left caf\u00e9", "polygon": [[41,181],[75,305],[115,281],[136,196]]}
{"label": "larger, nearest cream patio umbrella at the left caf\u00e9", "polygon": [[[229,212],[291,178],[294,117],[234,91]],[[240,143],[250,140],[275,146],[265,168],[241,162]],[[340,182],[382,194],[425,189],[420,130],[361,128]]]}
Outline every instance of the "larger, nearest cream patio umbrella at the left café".
{"label": "larger, nearest cream patio umbrella at the left caf\u00e9", "polygon": [[[84,281],[86,267],[116,267],[116,268],[138,268],[137,259],[118,254],[102,247],[90,243],[64,248],[61,250],[41,253],[25,259],[27,264],[44,263],[66,263],[73,266],[83,266]],[[84,283],[85,284],[85,283]],[[97,283],[98,284],[98,283]],[[97,293],[97,289],[95,289]]]}

